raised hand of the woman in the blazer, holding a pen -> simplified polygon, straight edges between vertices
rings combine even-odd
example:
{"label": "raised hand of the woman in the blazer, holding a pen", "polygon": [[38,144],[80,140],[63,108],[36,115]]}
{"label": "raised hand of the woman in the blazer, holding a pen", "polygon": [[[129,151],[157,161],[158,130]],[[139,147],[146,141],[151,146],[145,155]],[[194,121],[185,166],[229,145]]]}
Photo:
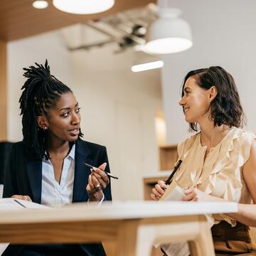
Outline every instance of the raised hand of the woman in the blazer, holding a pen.
{"label": "raised hand of the woman in the blazer, holding a pen", "polygon": [[107,184],[110,183],[105,168],[107,163],[102,164],[98,168],[91,169],[92,174],[88,178],[88,184],[86,191],[88,193],[89,201],[101,201],[103,197],[102,189],[106,188]]}

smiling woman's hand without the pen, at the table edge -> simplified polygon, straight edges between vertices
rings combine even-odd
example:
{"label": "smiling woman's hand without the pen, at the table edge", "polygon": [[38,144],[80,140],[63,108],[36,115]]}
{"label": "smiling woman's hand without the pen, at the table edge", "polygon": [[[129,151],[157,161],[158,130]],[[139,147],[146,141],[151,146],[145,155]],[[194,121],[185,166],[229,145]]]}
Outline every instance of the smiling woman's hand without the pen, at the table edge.
{"label": "smiling woman's hand without the pen, at the table edge", "polygon": [[216,202],[224,201],[222,198],[217,198],[215,196],[210,196],[197,188],[188,188],[184,191],[185,196],[183,196],[182,201],[201,201],[201,202]]}

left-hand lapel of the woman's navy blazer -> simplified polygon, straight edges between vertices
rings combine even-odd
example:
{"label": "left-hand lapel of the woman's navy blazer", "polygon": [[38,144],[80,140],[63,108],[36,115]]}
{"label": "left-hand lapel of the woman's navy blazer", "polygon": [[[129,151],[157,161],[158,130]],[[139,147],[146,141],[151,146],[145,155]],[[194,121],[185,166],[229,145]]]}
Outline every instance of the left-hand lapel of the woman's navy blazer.
{"label": "left-hand lapel of the woman's navy blazer", "polygon": [[28,180],[33,194],[33,201],[41,203],[42,161],[28,161],[26,164]]}

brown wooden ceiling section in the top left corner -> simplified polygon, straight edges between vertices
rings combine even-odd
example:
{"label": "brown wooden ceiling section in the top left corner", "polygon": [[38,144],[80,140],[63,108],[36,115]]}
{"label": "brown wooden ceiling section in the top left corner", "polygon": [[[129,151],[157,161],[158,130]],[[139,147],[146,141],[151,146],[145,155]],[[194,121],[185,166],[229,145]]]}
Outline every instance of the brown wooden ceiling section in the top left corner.
{"label": "brown wooden ceiling section in the top left corner", "polygon": [[14,41],[75,23],[97,21],[105,16],[155,2],[156,0],[116,0],[112,9],[101,14],[75,15],[55,9],[51,0],[48,0],[48,8],[43,10],[34,9],[33,0],[1,0],[0,40]]}

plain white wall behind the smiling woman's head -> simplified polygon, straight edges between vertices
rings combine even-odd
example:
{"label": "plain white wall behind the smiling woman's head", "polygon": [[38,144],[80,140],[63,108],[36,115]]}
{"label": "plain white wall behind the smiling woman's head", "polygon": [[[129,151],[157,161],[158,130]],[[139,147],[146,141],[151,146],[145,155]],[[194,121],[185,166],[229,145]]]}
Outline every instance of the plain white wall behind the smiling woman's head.
{"label": "plain white wall behind the smiling woman's head", "polygon": [[221,65],[233,75],[247,116],[247,127],[256,132],[256,2],[254,0],[171,0],[191,25],[193,47],[164,56],[162,90],[167,122],[167,141],[176,144],[188,135],[178,100],[188,71]]}

